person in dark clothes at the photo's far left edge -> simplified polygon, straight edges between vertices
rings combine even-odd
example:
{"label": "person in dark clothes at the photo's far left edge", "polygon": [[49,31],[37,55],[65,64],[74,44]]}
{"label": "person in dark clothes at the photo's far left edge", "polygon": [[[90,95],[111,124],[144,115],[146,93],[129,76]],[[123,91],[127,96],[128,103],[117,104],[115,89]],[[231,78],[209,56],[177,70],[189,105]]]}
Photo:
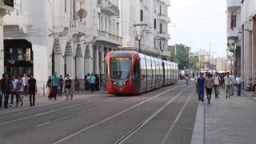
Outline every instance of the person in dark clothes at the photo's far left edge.
{"label": "person in dark clothes at the photo's far left edge", "polygon": [[8,108],[10,90],[13,89],[13,84],[8,76],[8,74],[2,74],[2,95],[4,97],[4,107]]}

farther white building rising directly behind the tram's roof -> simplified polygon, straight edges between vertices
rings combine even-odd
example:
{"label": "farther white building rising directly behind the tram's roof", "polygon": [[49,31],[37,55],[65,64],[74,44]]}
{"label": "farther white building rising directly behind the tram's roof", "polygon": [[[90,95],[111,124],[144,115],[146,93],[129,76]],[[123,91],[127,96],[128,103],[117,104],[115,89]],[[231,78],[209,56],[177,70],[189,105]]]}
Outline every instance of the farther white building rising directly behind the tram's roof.
{"label": "farther white building rising directly behind the tram's roof", "polygon": [[[123,49],[138,50],[138,39],[141,39],[142,53],[161,57],[170,56],[167,51],[169,0],[129,0],[121,2],[121,22]],[[160,45],[161,44],[161,45]]]}

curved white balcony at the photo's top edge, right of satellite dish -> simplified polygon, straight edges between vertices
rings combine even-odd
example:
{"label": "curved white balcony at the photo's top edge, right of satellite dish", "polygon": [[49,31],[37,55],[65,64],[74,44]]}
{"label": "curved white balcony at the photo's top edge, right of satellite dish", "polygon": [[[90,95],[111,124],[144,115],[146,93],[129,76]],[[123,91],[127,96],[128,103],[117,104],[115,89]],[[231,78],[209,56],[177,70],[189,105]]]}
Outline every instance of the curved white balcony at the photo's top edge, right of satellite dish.
{"label": "curved white balcony at the photo's top edge, right of satellite dish", "polygon": [[119,8],[116,6],[114,3],[110,2],[110,0],[98,0],[97,5],[102,7],[102,12],[109,14],[109,15],[114,15],[114,16],[119,16]]}

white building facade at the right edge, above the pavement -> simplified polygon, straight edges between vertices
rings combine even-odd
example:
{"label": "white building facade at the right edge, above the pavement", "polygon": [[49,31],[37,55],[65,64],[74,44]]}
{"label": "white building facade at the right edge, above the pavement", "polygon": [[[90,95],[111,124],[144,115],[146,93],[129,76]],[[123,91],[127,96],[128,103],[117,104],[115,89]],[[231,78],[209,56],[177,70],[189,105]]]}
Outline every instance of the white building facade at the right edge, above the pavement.
{"label": "white building facade at the right edge, above the pavement", "polygon": [[[238,73],[242,74],[246,86],[250,78],[256,78],[256,1],[228,0],[227,2],[229,14],[231,12],[237,14],[237,26],[230,31],[228,37],[229,39],[230,36],[237,38],[233,41],[234,44],[230,45],[234,47],[234,50],[239,50],[239,46],[241,46],[241,53],[234,54],[234,58],[235,62],[241,63],[241,69],[238,69]],[[230,23],[228,22],[228,24]],[[230,27],[228,29],[230,30]]]}

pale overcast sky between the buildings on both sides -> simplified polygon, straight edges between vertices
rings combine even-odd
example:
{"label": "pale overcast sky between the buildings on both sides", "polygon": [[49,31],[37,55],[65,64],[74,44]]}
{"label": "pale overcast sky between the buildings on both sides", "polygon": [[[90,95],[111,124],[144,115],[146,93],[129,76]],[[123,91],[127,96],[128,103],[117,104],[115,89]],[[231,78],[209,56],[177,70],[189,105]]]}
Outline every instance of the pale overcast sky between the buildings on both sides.
{"label": "pale overcast sky between the buildings on both sides", "polygon": [[226,55],[226,0],[170,0],[170,45]]}

